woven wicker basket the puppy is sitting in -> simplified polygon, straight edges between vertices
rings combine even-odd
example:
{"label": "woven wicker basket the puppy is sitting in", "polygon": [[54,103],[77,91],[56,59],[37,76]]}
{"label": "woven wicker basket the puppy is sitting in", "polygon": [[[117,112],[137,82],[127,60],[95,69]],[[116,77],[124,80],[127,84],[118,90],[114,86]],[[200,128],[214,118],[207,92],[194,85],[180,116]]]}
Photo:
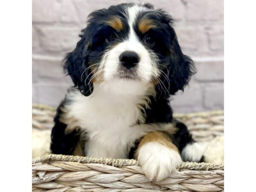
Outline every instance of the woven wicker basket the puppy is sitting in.
{"label": "woven wicker basket the puppy is sitting in", "polygon": [[[51,129],[55,108],[33,105],[33,129]],[[211,141],[223,135],[222,111],[176,114],[195,140]],[[184,162],[161,182],[149,182],[137,160],[46,154],[32,162],[33,192],[149,192],[224,190],[224,166]]]}

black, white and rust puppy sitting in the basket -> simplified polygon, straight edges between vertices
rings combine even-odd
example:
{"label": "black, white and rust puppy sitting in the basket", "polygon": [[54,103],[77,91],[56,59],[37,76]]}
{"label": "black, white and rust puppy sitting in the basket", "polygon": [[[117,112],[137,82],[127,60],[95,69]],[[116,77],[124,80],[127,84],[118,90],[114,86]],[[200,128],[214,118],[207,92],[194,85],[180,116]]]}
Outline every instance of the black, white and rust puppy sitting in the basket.
{"label": "black, white and rust puppy sitting in the basket", "polygon": [[169,104],[195,71],[171,16],[150,4],[111,6],[91,13],[80,37],[64,64],[75,87],[57,110],[52,153],[136,158],[150,180],[200,161]]}

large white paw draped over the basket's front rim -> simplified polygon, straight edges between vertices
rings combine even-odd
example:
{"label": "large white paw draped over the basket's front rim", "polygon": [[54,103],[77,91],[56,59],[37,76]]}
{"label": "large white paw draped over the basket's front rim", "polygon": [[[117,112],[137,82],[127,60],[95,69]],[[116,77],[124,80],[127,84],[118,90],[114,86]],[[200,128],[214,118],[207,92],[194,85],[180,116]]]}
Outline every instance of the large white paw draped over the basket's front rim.
{"label": "large white paw draped over the basket's front rim", "polygon": [[168,177],[182,163],[180,154],[157,142],[149,142],[138,151],[138,161],[149,180]]}

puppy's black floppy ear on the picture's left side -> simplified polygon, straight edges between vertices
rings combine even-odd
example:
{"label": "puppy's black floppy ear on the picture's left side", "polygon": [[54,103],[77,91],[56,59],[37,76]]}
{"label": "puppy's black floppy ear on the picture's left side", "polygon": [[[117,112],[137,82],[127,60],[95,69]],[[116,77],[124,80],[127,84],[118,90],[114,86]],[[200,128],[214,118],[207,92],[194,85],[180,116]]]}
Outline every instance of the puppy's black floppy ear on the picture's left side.
{"label": "puppy's black floppy ear on the picture's left side", "polygon": [[77,43],[73,52],[66,55],[64,60],[64,72],[70,75],[75,87],[81,91],[84,96],[93,93],[93,82],[90,66],[88,64],[88,48],[86,29],[82,31],[81,40]]}

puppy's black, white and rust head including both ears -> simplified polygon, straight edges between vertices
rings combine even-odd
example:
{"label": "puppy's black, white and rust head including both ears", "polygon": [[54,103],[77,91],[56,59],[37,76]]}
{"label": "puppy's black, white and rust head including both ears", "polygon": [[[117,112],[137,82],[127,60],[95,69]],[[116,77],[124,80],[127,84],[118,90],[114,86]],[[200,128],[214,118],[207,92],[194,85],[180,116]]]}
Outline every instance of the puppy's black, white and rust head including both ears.
{"label": "puppy's black, white and rust head including both ears", "polygon": [[194,73],[171,17],[149,4],[93,12],[80,37],[64,68],[85,96],[99,84],[118,94],[143,94],[154,86],[158,96],[168,97],[183,90]]}

